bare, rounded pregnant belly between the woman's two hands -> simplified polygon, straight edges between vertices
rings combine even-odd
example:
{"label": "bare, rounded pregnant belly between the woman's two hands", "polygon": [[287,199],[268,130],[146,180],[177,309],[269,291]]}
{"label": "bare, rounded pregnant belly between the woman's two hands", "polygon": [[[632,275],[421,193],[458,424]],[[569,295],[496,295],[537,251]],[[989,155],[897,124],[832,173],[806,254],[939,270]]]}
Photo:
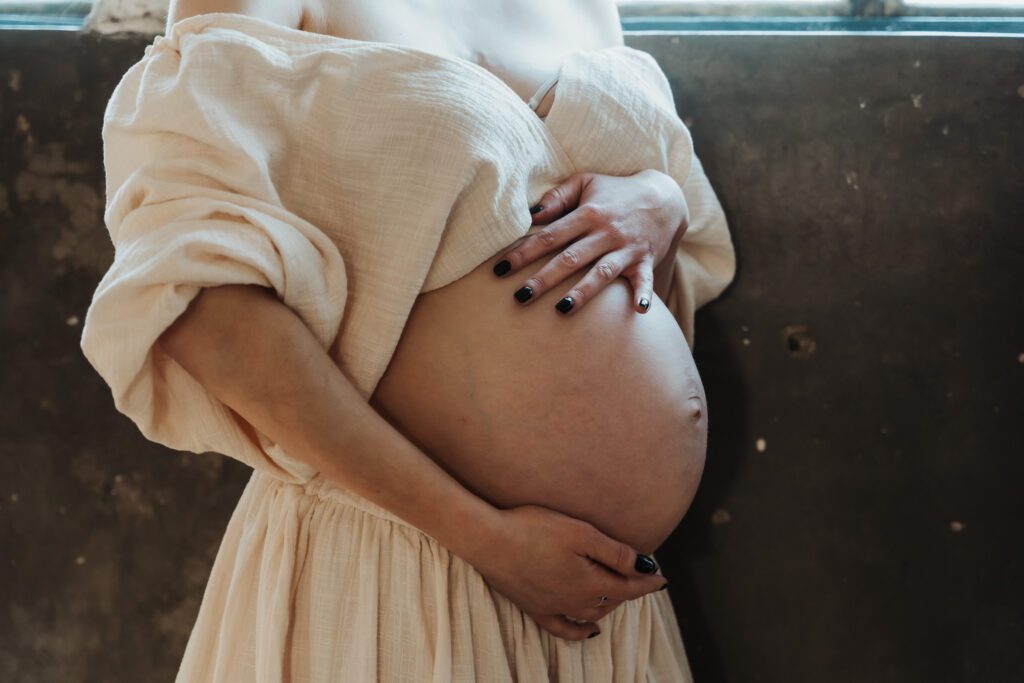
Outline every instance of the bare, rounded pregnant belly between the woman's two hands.
{"label": "bare, rounded pregnant belly between the woman's two hands", "polygon": [[518,303],[553,255],[497,278],[495,254],[420,295],[370,403],[493,505],[543,505],[654,552],[703,469],[700,378],[662,300],[634,312],[623,278],[566,316],[554,304],[589,267]]}

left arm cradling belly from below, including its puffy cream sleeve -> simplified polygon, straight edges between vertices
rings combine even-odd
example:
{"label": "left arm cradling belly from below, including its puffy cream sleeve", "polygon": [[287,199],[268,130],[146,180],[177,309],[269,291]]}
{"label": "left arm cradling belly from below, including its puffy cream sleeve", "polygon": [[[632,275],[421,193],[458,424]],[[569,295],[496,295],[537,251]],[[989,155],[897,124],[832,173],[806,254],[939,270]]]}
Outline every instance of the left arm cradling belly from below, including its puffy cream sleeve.
{"label": "left arm cradling belly from below, including its puffy cream sleeve", "polygon": [[[242,43],[195,41],[190,60],[151,51],[104,119],[115,260],[81,347],[116,408],[171,449],[219,453],[290,483],[338,481],[461,556],[555,635],[589,635],[594,624],[558,614],[599,618],[612,603],[593,608],[595,596],[660,588],[633,564],[635,549],[584,520],[471,496],[376,414],[369,376],[355,383],[335,365],[328,351],[350,294],[344,255],[358,254],[274,190],[269,147],[294,138],[264,130],[262,108],[224,101],[208,71],[178,68],[222,45]],[[274,91],[254,90],[253,101]],[[262,134],[222,143],[228,126]]]}

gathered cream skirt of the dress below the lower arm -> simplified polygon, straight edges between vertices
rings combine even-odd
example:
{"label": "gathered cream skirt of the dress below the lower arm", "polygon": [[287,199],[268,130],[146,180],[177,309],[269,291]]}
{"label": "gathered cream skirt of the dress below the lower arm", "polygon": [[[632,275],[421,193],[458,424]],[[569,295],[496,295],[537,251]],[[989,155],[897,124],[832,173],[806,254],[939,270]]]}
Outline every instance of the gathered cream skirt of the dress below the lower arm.
{"label": "gathered cream skirt of the dress below the lower arm", "polygon": [[429,535],[316,476],[255,470],[221,542],[177,681],[658,683],[692,680],[669,591],[595,638],[542,630]]}

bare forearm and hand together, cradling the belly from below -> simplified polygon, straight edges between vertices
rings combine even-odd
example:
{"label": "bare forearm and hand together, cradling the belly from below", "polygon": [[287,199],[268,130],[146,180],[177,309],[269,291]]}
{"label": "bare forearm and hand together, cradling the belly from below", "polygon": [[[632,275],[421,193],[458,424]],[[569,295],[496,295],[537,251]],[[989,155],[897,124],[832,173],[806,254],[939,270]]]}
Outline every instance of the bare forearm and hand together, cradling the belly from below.
{"label": "bare forearm and hand together, cradling the belly from below", "polygon": [[[556,636],[582,640],[618,600],[667,585],[587,522],[499,510],[464,488],[364,400],[268,288],[205,288],[158,343],[289,454],[436,539]],[[598,595],[615,600],[592,607]],[[558,615],[569,612],[591,621]]]}

